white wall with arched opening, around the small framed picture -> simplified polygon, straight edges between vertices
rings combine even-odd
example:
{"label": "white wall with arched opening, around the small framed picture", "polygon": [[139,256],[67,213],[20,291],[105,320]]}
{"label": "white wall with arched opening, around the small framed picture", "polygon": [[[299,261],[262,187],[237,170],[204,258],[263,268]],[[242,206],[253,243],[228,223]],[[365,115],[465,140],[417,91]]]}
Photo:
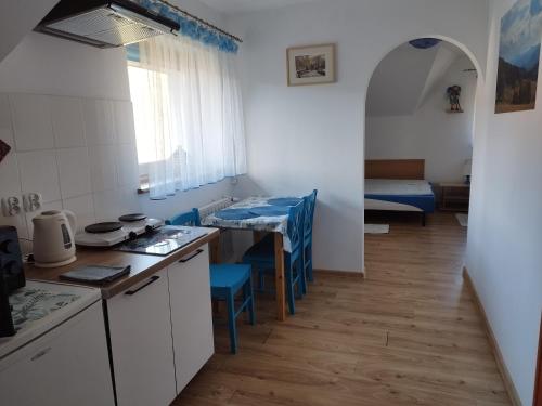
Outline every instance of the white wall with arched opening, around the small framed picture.
{"label": "white wall with arched opening, around the small framed picture", "polygon": [[[363,262],[365,91],[380,60],[408,40],[446,36],[486,60],[487,3],[472,0],[339,0],[236,15],[249,194],[320,191],[314,262],[359,272]],[[334,84],[288,88],[286,49],[335,42]]]}

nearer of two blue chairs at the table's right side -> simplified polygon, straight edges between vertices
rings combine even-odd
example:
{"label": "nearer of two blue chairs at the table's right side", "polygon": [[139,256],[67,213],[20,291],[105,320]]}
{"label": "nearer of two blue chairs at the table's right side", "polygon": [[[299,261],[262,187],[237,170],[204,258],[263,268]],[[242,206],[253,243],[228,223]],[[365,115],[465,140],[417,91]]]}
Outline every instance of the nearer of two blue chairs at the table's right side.
{"label": "nearer of two blue chairs at the table's right side", "polygon": [[[304,272],[304,214],[307,198],[297,206],[289,208],[287,235],[292,245],[291,252],[284,252],[284,274],[286,278],[286,296],[291,314],[295,314],[295,291],[306,292],[306,277]],[[270,243],[271,241],[271,243]],[[266,237],[251,246],[243,256],[243,262],[253,265],[260,272],[274,272],[274,239]],[[300,297],[300,296],[299,296]]]}

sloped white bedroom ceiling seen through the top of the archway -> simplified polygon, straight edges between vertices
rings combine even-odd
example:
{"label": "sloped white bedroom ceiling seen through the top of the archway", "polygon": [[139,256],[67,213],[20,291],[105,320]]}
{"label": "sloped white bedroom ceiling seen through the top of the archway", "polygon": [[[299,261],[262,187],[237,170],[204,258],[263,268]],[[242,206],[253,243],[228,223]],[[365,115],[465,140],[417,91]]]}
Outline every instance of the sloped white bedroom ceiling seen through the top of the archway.
{"label": "sloped white bedroom ceiling seen through the top of the archway", "polygon": [[450,43],[420,50],[403,44],[376,68],[369,86],[366,110],[372,117],[408,116],[420,108],[463,52]]}

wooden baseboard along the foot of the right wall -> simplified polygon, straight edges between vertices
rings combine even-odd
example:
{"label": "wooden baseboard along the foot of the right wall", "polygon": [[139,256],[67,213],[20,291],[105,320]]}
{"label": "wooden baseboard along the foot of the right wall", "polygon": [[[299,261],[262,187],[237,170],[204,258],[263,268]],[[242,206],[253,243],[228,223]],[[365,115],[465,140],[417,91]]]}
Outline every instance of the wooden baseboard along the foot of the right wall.
{"label": "wooden baseboard along the foot of the right wall", "polygon": [[499,372],[501,374],[501,377],[503,378],[504,381],[504,388],[506,389],[506,392],[508,392],[508,396],[512,401],[512,404],[514,406],[521,406],[522,405],[521,400],[519,398],[519,394],[517,393],[516,385],[514,384],[508,368],[504,363],[503,354],[499,346],[499,342],[495,339],[493,329],[489,324],[488,315],[486,314],[486,310],[483,309],[483,304],[480,301],[480,297],[476,291],[476,287],[473,284],[473,279],[470,278],[470,275],[468,274],[468,270],[466,266],[463,267],[463,279],[465,280],[465,285],[467,286],[467,288],[473,293],[473,299],[475,301],[475,304],[478,307],[478,311],[480,312],[482,323],[486,328],[486,332],[488,335],[489,343],[491,345],[491,350],[493,351],[493,355],[496,361],[496,367],[499,368]]}

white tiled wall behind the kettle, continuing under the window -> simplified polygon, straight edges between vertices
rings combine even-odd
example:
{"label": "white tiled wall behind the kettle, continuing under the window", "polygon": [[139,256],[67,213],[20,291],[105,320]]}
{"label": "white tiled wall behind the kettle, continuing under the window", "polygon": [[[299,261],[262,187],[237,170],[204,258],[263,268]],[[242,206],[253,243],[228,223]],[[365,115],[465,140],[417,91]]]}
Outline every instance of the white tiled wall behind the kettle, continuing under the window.
{"label": "white tiled wall behind the kettle, continuing under the window", "polygon": [[[221,24],[220,14],[197,0],[182,6]],[[100,50],[27,34],[0,62],[0,139],[13,147],[0,162],[0,198],[38,192],[44,209],[72,209],[85,225],[139,210],[167,218],[231,195],[225,180],[166,201],[138,197],[129,100],[122,48]],[[46,165],[42,171],[39,163]],[[31,238],[35,214],[0,214],[0,224],[17,225],[21,237]]]}

